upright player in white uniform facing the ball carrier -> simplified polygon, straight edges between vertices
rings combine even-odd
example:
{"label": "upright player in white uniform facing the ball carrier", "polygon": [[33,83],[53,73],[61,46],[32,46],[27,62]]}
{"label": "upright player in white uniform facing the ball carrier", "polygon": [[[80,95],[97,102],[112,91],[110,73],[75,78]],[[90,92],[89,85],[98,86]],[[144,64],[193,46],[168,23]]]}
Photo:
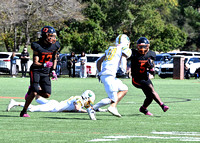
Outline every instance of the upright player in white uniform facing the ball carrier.
{"label": "upright player in white uniform facing the ball carrier", "polygon": [[102,106],[111,104],[108,111],[117,117],[121,117],[116,106],[117,103],[126,95],[128,87],[116,78],[116,73],[119,67],[126,73],[127,58],[131,56],[129,49],[130,40],[125,34],[120,34],[116,38],[114,45],[109,46],[105,54],[97,61],[98,75],[101,82],[104,84],[108,98],[104,98],[93,106],[94,110]]}

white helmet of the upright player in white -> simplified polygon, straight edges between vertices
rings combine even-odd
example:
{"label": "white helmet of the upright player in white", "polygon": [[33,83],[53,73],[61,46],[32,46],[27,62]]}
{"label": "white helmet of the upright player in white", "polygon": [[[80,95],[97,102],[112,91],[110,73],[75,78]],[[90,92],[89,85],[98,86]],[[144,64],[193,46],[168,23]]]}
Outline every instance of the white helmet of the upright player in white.
{"label": "white helmet of the upright player in white", "polygon": [[130,39],[126,34],[118,35],[116,40],[115,40],[116,45],[122,45],[122,46],[125,46],[125,47],[129,47],[130,43],[131,43]]}

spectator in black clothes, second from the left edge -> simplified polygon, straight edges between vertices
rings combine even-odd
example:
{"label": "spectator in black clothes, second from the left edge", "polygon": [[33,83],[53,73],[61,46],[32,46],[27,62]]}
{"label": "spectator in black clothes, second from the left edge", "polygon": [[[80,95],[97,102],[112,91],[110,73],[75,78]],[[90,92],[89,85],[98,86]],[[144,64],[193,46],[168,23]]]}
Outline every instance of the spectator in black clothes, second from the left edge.
{"label": "spectator in black clothes, second from the left edge", "polygon": [[21,53],[21,68],[22,68],[22,78],[26,77],[27,64],[30,59],[29,53],[27,51],[27,45],[24,46],[23,52]]}

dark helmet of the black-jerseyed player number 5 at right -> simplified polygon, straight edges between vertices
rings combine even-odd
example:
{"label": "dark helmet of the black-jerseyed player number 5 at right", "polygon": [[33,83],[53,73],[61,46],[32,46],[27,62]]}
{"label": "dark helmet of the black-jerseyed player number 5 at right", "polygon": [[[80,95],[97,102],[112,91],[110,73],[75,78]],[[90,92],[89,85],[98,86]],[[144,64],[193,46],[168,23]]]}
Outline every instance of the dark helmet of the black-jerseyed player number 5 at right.
{"label": "dark helmet of the black-jerseyed player number 5 at right", "polygon": [[145,55],[149,51],[150,42],[146,37],[140,37],[137,41],[138,52]]}

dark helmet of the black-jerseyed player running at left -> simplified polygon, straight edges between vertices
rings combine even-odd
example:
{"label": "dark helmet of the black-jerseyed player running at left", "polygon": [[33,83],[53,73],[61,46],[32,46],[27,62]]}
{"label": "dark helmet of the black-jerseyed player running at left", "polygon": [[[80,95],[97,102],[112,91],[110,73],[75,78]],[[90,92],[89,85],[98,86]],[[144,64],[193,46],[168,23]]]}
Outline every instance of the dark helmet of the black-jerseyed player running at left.
{"label": "dark helmet of the black-jerseyed player running at left", "polygon": [[56,30],[51,26],[44,26],[41,29],[41,38],[50,44],[56,43]]}

